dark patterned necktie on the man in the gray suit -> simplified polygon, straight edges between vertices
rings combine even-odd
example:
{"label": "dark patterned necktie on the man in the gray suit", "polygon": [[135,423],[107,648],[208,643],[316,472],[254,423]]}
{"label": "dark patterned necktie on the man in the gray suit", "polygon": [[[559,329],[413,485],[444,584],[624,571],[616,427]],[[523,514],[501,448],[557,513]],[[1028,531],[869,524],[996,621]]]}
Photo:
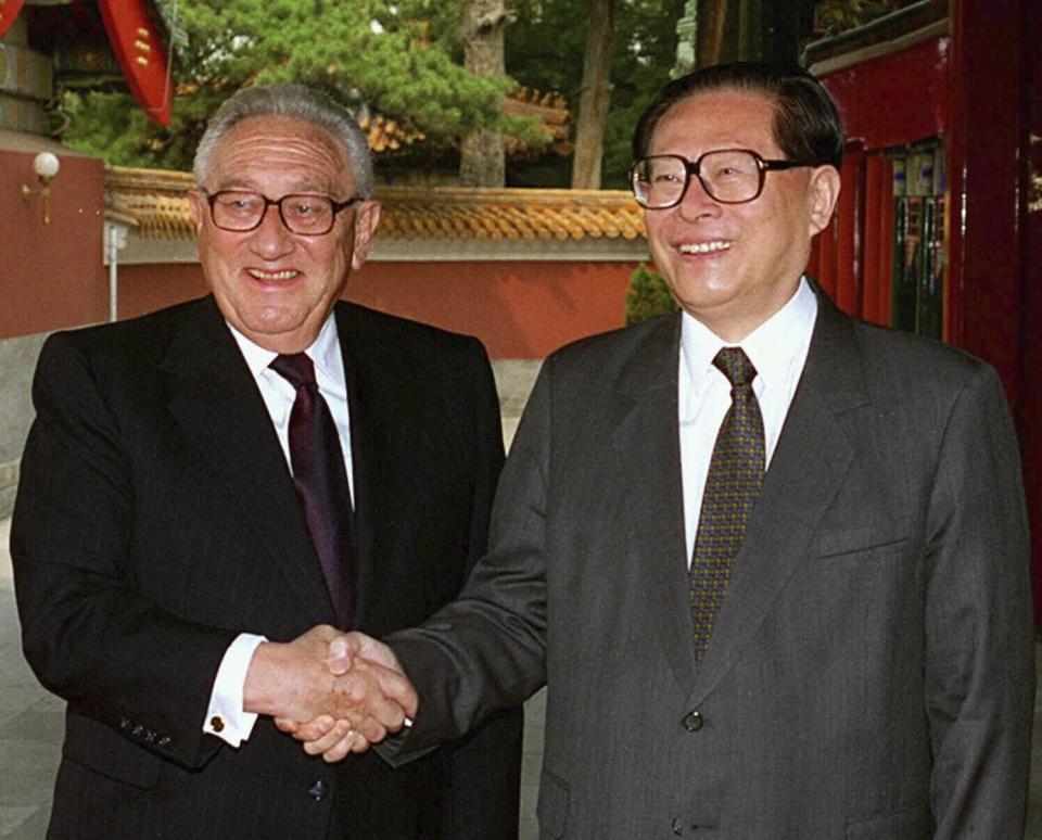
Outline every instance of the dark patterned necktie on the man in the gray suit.
{"label": "dark patterned necktie on the man in the gray suit", "polygon": [[732,402],[709,462],[691,559],[696,663],[702,661],[727,594],[730,571],[746,537],[749,512],[763,486],[764,471],[763,418],[752,392],[757,369],[741,347],[724,347],[713,365],[730,382]]}

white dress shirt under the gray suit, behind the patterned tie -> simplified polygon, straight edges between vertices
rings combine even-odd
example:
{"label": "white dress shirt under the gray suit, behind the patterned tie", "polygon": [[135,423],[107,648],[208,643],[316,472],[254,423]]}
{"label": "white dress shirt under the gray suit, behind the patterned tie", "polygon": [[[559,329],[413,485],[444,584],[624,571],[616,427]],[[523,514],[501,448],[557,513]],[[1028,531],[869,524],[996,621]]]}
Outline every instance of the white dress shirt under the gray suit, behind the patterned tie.
{"label": "white dress shirt under the gray suit, behind the patterned tie", "polygon": [[690,565],[716,434],[730,408],[730,383],[713,365],[721,347],[740,346],[757,377],[752,391],[763,416],[764,468],[785,423],[792,395],[803,373],[811,333],[817,317],[817,297],[806,282],[788,303],[749,333],[739,345],[725,342],[699,320],[683,314],[678,377],[681,473],[684,485],[684,529]]}

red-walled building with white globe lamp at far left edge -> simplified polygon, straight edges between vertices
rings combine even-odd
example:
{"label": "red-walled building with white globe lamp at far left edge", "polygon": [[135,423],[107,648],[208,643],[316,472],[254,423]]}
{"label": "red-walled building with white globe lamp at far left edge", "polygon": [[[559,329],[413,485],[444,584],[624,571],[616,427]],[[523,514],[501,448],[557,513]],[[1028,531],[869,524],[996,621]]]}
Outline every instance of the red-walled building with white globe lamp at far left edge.
{"label": "red-walled building with white globe lamp at far left edge", "polygon": [[58,90],[118,82],[168,120],[167,44],[145,0],[0,0],[0,516],[43,335],[110,310],[104,165],[51,139]]}

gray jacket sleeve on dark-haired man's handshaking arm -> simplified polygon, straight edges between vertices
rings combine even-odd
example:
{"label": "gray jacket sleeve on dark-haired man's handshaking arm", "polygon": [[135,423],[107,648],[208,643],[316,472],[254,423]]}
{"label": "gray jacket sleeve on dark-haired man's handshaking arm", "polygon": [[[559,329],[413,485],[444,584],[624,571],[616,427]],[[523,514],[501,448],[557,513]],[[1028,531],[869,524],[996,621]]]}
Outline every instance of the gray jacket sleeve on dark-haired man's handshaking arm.
{"label": "gray jacket sleeve on dark-haired man's handshaking arm", "polygon": [[548,366],[529,398],[499,480],[488,552],[458,600],[422,627],[387,639],[421,698],[416,725],[399,743],[403,759],[461,736],[545,682]]}

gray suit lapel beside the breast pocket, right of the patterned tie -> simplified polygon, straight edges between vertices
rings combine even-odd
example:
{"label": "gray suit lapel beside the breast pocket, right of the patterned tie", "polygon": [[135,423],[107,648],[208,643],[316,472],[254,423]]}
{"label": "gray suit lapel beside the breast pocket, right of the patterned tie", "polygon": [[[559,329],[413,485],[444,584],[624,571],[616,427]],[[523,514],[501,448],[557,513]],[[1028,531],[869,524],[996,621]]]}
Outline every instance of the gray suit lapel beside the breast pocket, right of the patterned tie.
{"label": "gray suit lapel beside the breast pocket, right of the patterned tie", "polygon": [[694,705],[735,664],[796,565],[806,556],[816,525],[853,457],[837,415],[867,403],[850,319],[818,293],[818,314],[803,374],[699,670],[691,696]]}

